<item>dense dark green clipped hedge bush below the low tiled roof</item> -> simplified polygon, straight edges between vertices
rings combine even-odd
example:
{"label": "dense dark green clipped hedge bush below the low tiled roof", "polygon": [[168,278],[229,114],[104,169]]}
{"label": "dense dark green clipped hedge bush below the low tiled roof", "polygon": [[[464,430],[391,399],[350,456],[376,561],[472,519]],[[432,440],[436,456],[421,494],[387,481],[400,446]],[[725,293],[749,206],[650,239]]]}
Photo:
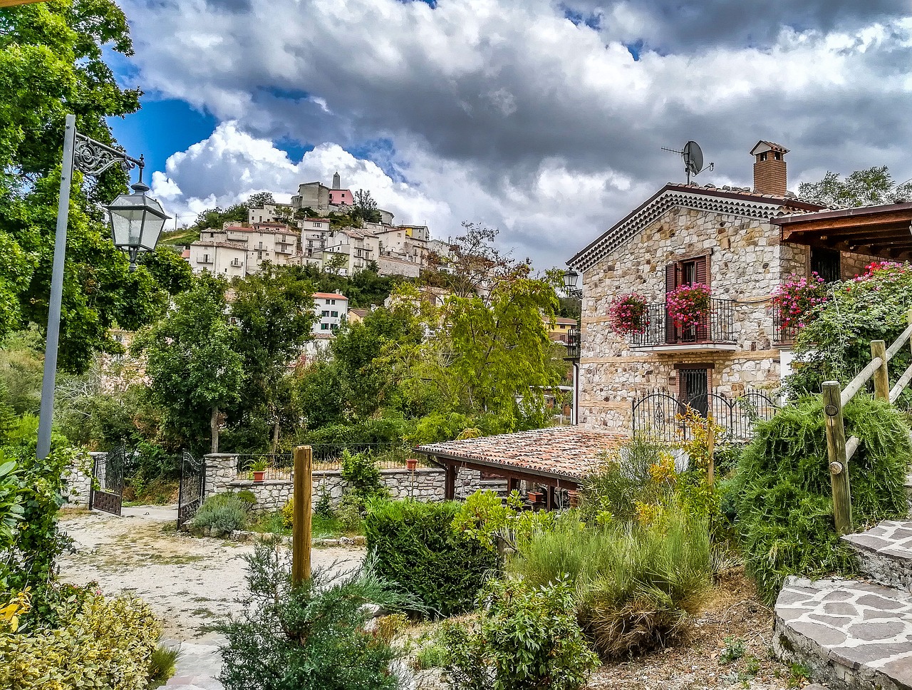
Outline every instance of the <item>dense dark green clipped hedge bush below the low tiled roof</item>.
{"label": "dense dark green clipped hedge bush below the low tiled roof", "polygon": [[451,616],[472,607],[497,554],[451,528],[456,503],[375,501],[368,506],[368,550],[381,577],[433,612]]}

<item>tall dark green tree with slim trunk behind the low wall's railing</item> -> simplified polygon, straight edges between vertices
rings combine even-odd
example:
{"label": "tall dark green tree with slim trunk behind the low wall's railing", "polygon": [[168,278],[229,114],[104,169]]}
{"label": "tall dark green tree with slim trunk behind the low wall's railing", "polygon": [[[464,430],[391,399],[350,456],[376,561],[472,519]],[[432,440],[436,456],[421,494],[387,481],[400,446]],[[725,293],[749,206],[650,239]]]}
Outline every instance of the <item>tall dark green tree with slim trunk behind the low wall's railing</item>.
{"label": "tall dark green tree with slim trunk behind the low wall's railing", "polygon": [[235,280],[232,288],[235,348],[244,366],[244,399],[234,409],[234,421],[249,422],[257,414],[264,418],[273,429],[275,452],[286,416],[288,365],[310,340],[316,320],[313,288],[295,271],[268,263],[259,273]]}

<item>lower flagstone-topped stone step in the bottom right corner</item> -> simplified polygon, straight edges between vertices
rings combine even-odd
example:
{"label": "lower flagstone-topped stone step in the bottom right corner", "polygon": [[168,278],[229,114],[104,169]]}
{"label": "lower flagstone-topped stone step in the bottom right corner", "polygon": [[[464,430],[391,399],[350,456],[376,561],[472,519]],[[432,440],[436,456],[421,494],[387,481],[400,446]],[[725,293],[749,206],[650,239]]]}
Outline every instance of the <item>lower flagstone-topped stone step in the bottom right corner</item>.
{"label": "lower flagstone-topped stone step in the bottom right corner", "polygon": [[786,580],[772,648],[834,690],[912,690],[912,594],[857,580]]}

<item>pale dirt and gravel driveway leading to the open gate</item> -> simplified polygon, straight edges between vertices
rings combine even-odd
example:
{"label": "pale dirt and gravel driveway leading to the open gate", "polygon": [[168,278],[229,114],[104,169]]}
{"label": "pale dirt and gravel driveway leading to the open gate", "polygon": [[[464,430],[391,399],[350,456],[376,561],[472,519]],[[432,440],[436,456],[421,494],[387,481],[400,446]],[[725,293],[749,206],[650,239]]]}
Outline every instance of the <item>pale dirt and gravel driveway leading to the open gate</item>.
{"label": "pale dirt and gravel driveway leading to the open gate", "polygon": [[[78,551],[60,561],[61,578],[96,581],[105,594],[134,594],[163,623],[162,635],[184,642],[218,640],[206,624],[242,610],[244,554],[253,546],[219,538],[194,538],[171,529],[176,511],[124,508],[124,517],[99,512],[64,515],[61,525]],[[314,566],[355,565],[363,549],[314,549]]]}

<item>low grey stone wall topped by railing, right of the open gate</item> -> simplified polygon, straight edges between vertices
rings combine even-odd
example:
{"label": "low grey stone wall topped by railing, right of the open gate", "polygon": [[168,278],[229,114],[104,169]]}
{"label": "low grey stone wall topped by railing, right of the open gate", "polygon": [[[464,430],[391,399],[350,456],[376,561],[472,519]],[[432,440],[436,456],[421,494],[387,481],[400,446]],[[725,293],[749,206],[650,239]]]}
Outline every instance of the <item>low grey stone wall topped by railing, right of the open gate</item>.
{"label": "low grey stone wall topped by railing, right of the open gate", "polygon": [[[206,455],[206,497],[227,491],[252,491],[256,497],[254,510],[276,510],[285,506],[294,492],[290,479],[274,479],[254,482],[237,476],[237,455]],[[380,480],[389,489],[393,498],[412,497],[420,501],[443,500],[444,472],[441,467],[418,467],[409,472],[405,467],[380,470]],[[482,487],[477,471],[461,469],[456,478],[456,497],[464,498]],[[347,482],[339,470],[317,470],[314,472],[314,486],[311,505],[327,494],[337,507],[347,488]]]}

